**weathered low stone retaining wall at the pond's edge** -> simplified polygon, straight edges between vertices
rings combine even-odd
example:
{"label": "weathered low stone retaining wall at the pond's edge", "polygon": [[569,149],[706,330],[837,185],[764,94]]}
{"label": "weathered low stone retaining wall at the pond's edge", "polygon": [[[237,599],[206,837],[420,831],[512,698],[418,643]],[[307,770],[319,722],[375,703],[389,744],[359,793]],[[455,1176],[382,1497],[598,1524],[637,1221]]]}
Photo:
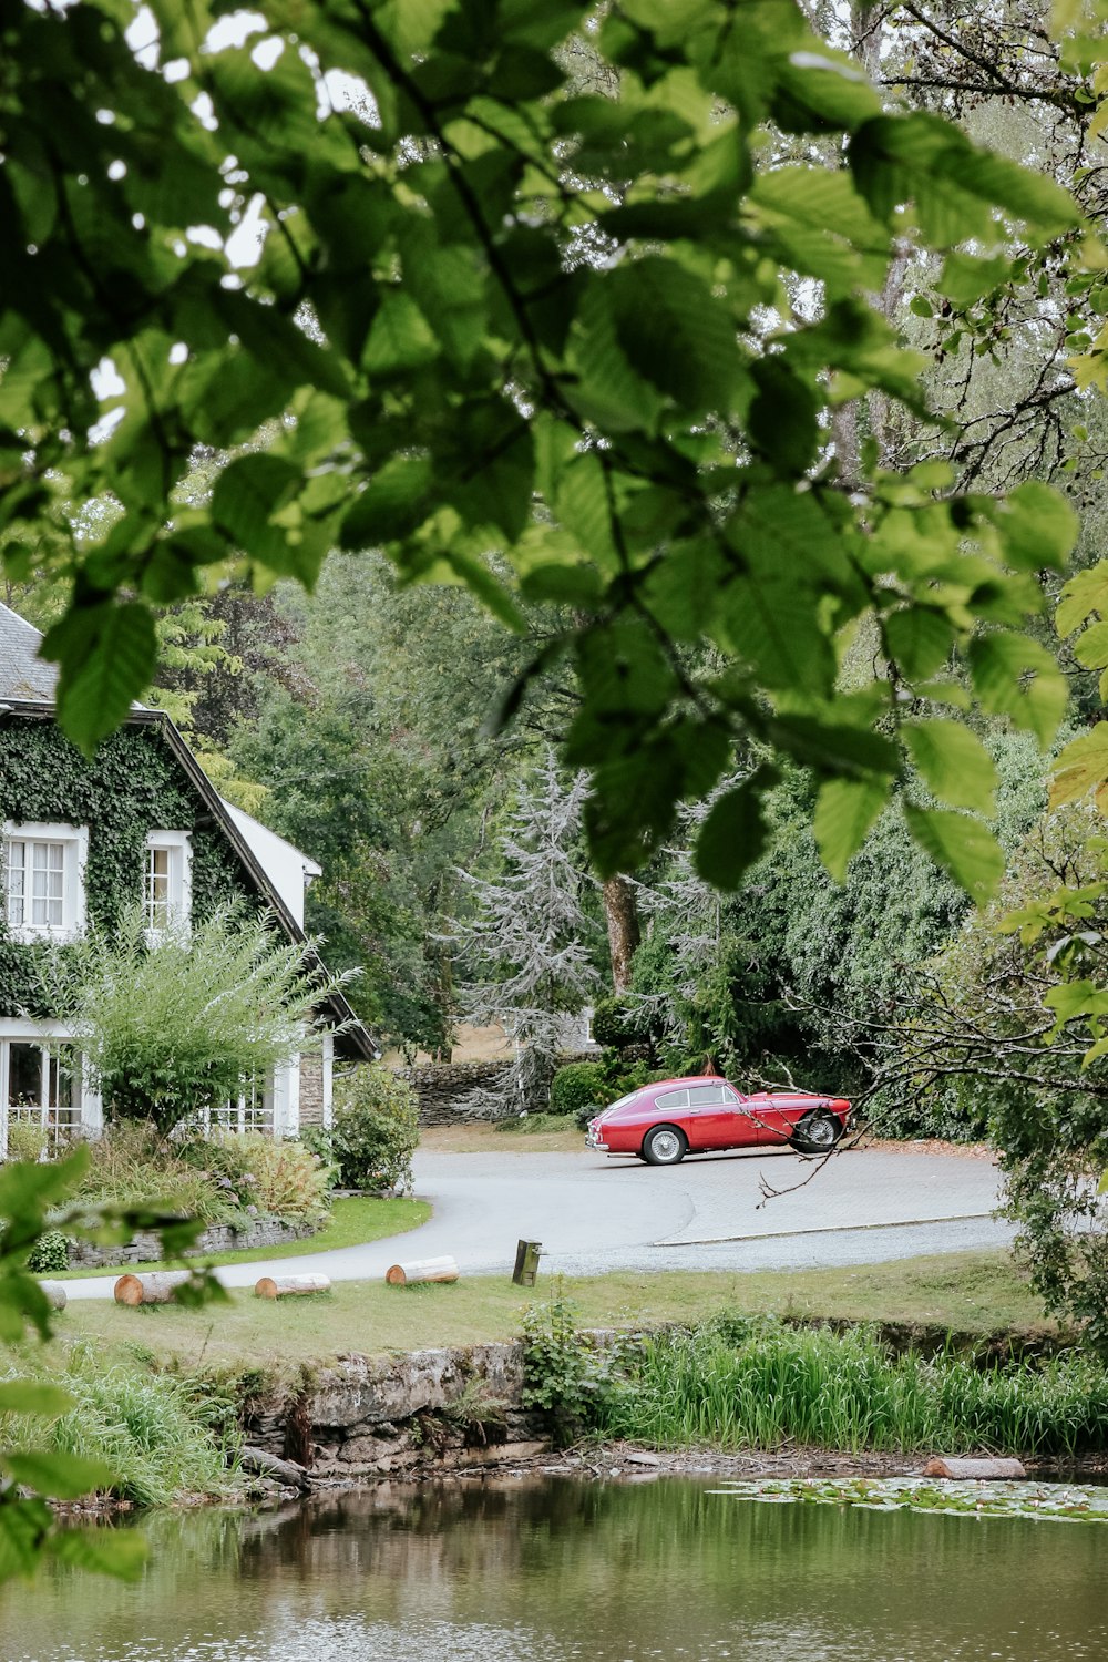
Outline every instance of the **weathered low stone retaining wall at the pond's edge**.
{"label": "weathered low stone retaining wall at the pond's edge", "polygon": [[487,1466],[550,1448],[523,1408],[523,1346],[470,1345],[407,1356],[342,1356],[301,1396],[244,1419],[246,1441],[314,1478],[402,1476],[429,1458]]}

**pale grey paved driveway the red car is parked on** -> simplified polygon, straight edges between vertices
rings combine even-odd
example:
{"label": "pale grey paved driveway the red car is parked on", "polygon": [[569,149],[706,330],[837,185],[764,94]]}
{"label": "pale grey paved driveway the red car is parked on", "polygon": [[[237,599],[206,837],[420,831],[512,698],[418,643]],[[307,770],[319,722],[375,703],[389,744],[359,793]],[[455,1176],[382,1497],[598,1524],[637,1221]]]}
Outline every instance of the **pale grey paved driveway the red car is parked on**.
{"label": "pale grey paved driveway the red car is parked on", "polygon": [[[219,1270],[219,1280],[252,1286],[259,1275],[309,1270],[337,1281],[375,1280],[397,1258],[442,1253],[465,1275],[503,1273],[520,1237],[543,1243],[545,1270],[603,1275],[879,1263],[997,1246],[1013,1233],[990,1215],[990,1162],[877,1148],[847,1150],[821,1168],[789,1150],[698,1157],[678,1167],[588,1152],[424,1150],[415,1157],[415,1193],[434,1203],[434,1217],[404,1237],[234,1265]],[[108,1298],[115,1280],[68,1281],[66,1291]]]}

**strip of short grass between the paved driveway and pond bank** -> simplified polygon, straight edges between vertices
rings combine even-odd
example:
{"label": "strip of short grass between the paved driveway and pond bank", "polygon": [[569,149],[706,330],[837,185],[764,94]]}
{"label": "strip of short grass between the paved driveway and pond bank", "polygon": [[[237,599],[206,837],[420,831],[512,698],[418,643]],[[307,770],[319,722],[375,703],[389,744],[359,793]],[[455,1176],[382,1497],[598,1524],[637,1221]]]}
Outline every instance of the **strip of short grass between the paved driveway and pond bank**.
{"label": "strip of short grass between the paved driveway and pond bank", "polygon": [[[339,1351],[379,1355],[427,1346],[473,1345],[518,1336],[523,1306],[550,1296],[550,1276],[533,1291],[507,1276],[453,1285],[385,1286],[339,1281],[322,1298],[271,1303],[248,1293],[203,1310],[161,1305],[131,1310],[73,1303],[58,1333],[96,1343],[138,1343],[183,1369],[271,1368],[274,1374]],[[859,1270],[743,1273],[626,1271],[576,1280],[566,1291],[583,1326],[693,1323],[718,1311],[890,1321],[990,1336],[1043,1331],[1050,1325],[1027,1281],[1003,1251],[897,1260]]]}

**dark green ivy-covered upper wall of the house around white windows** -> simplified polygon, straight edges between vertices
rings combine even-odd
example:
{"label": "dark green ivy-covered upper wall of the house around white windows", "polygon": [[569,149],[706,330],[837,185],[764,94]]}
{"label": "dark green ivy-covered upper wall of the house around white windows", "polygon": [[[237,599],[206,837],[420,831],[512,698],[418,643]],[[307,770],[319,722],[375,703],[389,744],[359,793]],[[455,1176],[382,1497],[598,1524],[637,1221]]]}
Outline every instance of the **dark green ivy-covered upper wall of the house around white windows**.
{"label": "dark green ivy-covered upper wall of the house around white windows", "polygon": [[[234,899],[256,899],[246,873],[203,798],[193,789],[159,726],[121,728],[93,760],[51,721],[0,723],[0,821],[88,826],[88,922],[110,929],[143,894],[150,831],[193,836],[193,916]],[[40,966],[56,951],[12,941],[0,907],[0,1015],[50,1015]],[[65,951],[65,949],[61,949]]]}

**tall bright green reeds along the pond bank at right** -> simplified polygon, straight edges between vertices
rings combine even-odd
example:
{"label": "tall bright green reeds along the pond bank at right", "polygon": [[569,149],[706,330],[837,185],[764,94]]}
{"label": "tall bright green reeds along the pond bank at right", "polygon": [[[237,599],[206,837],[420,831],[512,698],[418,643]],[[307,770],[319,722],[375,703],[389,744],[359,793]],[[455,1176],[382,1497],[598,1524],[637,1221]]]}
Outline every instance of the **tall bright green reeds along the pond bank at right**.
{"label": "tall bright green reeds along the pond bank at right", "polygon": [[1108,1368],[894,1355],[865,1330],[709,1323],[650,1340],[598,1406],[605,1436],[673,1448],[942,1448],[1068,1456],[1108,1448]]}

